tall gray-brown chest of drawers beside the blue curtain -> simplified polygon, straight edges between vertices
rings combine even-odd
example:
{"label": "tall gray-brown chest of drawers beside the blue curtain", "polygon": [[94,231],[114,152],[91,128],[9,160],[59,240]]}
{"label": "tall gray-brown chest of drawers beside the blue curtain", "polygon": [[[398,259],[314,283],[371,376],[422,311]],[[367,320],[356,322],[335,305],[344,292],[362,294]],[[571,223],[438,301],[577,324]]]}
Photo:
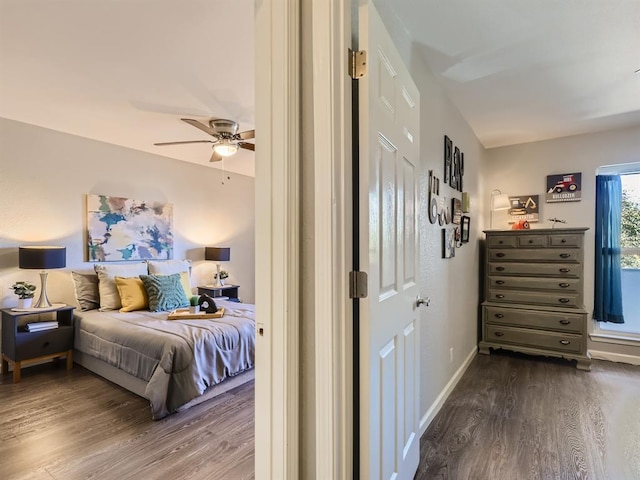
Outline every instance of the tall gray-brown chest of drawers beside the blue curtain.
{"label": "tall gray-brown chest of drawers beside the blue curtain", "polygon": [[485,230],[479,352],[502,348],[591,370],[584,308],[587,228]]}

